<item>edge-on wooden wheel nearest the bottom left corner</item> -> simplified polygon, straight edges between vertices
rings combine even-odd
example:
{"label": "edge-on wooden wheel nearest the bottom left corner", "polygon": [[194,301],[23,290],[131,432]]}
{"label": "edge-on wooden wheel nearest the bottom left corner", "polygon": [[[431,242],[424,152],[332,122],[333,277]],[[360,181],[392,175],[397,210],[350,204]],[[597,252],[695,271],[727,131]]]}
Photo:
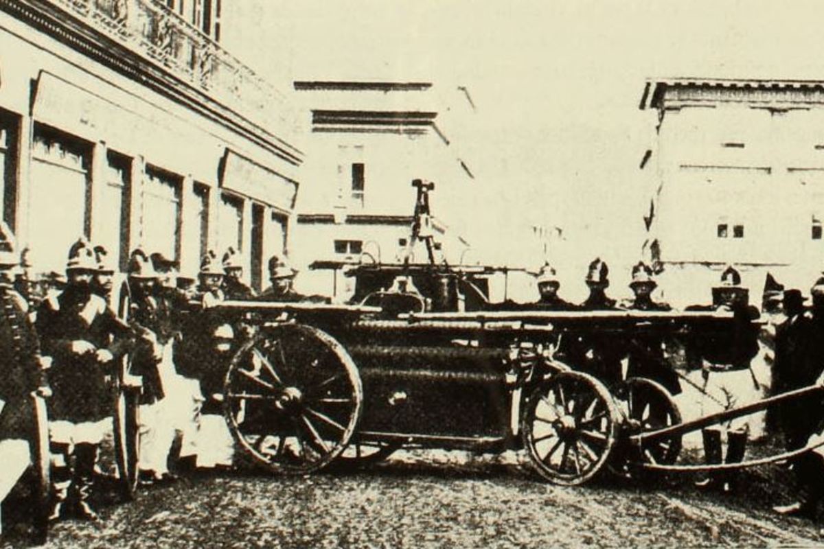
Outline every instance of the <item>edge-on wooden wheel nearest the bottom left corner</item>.
{"label": "edge-on wooden wheel nearest the bottom left corner", "polygon": [[49,454],[49,416],[44,398],[32,394],[34,432],[32,433],[32,465],[35,472],[33,495],[34,542],[42,545],[49,533],[49,494],[51,491],[51,455]]}

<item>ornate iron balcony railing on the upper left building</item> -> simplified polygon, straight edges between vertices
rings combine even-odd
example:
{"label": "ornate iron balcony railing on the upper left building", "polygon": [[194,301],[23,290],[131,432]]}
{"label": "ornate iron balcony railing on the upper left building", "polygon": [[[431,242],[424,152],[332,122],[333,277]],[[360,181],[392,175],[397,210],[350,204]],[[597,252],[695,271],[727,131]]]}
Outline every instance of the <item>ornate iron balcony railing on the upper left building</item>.
{"label": "ornate iron balcony railing on the upper left building", "polygon": [[47,0],[265,128],[283,95],[157,0]]}

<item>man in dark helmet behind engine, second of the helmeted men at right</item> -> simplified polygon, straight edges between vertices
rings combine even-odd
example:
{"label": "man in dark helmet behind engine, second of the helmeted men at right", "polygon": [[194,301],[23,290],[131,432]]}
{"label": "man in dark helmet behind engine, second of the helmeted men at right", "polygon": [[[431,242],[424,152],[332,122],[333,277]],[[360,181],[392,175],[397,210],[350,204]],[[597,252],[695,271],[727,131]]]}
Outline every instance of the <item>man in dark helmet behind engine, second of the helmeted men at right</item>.
{"label": "man in dark helmet behind engine, second of the helmeted men at right", "polygon": [[[606,296],[609,287],[609,267],[601,258],[589,264],[586,282],[589,296],[581,305],[583,310],[614,310],[616,301]],[[578,336],[573,343],[570,360],[583,371],[592,374],[607,387],[614,387],[623,378],[621,360],[625,356],[624,346],[609,334]]]}

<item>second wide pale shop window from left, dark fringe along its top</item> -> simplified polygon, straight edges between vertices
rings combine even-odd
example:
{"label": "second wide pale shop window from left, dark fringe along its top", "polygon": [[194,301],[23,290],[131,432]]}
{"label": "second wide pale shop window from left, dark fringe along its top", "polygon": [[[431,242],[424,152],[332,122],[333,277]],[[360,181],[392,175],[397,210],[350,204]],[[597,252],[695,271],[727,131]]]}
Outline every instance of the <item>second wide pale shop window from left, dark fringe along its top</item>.
{"label": "second wide pale shop window from left, dark fringe along its top", "polygon": [[179,175],[147,167],[143,179],[143,249],[147,254],[160,252],[175,261],[180,259],[180,183]]}

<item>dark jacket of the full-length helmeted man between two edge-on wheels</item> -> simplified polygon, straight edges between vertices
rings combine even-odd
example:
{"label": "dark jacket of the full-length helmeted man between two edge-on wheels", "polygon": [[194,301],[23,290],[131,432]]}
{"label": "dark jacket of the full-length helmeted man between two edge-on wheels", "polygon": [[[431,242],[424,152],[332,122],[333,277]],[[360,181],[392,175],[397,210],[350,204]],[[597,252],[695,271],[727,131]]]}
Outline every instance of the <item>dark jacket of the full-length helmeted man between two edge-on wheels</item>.
{"label": "dark jacket of the full-length helmeted man between two edge-on wheels", "polygon": [[[43,354],[53,359],[49,369],[54,391],[49,401],[51,419],[79,423],[110,416],[110,379],[119,358],[129,350],[129,327],[101,296],[78,293],[73,286],[40,304],[35,326]],[[78,356],[72,347],[79,340],[107,349],[115,360],[101,364],[93,354]]]}

